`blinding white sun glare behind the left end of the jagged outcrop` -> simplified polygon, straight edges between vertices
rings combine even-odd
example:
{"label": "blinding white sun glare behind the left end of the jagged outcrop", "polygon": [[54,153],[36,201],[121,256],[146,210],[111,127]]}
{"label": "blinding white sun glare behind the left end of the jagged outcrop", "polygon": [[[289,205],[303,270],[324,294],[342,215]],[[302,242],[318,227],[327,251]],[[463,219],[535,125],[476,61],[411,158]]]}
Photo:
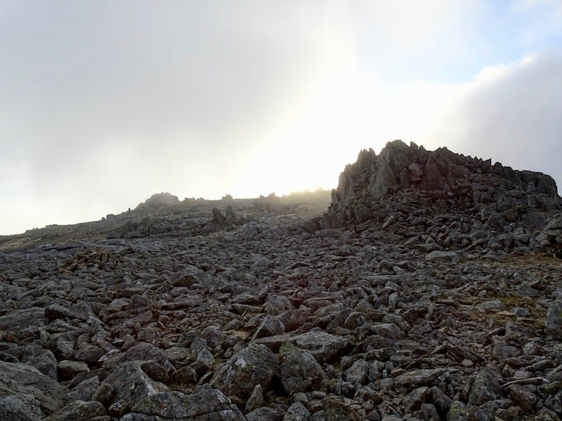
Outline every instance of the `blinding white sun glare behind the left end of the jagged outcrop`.
{"label": "blinding white sun glare behind the left end of the jagged outcrop", "polygon": [[360,149],[372,147],[378,152],[396,138],[427,141],[424,133],[443,113],[452,86],[438,90],[412,83],[391,94],[374,80],[372,74],[360,72],[325,77],[292,126],[272,129],[273,146],[249,163],[233,194],[248,197],[333,188]]}

